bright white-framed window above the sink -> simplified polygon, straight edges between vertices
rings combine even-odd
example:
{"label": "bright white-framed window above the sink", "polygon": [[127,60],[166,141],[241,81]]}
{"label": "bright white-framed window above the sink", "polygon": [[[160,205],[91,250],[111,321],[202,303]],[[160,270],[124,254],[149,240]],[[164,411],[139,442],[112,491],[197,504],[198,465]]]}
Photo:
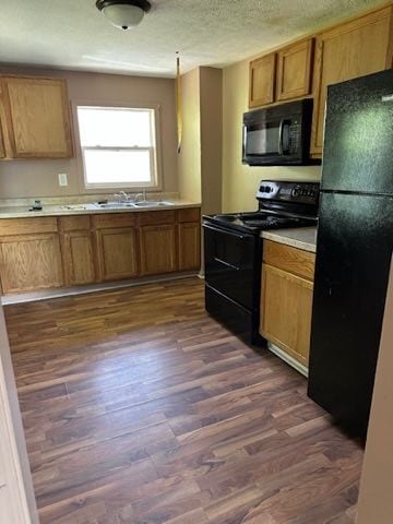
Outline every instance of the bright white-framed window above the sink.
{"label": "bright white-framed window above the sink", "polygon": [[153,108],[78,106],[86,188],[157,187]]}

